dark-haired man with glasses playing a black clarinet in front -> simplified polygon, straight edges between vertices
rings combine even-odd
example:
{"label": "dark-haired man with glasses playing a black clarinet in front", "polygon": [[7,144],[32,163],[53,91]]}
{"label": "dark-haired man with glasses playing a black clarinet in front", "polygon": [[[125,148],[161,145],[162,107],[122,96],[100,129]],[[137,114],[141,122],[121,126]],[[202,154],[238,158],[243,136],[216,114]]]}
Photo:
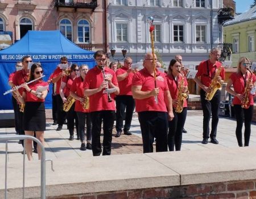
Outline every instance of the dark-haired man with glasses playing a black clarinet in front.
{"label": "dark-haired man with glasses playing a black clarinet in front", "polygon": [[[115,117],[114,100],[109,100],[105,89],[114,88],[114,94],[119,94],[117,76],[115,72],[106,67],[106,53],[96,51],[94,53],[96,66],[86,74],[84,80],[84,95],[89,96],[89,112],[92,118],[92,151],[93,156],[101,155],[101,123],[103,120],[103,152],[102,155],[111,154],[112,130]],[[110,98],[113,99],[113,96]]]}

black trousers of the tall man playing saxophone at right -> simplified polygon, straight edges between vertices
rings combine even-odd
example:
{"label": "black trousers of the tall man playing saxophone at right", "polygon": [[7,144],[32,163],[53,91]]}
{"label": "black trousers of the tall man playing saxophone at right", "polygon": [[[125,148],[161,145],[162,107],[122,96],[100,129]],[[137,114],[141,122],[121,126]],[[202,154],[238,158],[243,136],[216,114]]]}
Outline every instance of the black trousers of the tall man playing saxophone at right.
{"label": "black trousers of the tall man playing saxophone at right", "polygon": [[217,134],[218,125],[218,112],[220,109],[220,90],[214,94],[212,100],[208,101],[205,99],[205,92],[203,89],[200,90],[201,105],[203,109],[203,138],[209,138],[209,122],[210,114],[212,114],[212,130],[210,131],[210,138],[215,138]]}

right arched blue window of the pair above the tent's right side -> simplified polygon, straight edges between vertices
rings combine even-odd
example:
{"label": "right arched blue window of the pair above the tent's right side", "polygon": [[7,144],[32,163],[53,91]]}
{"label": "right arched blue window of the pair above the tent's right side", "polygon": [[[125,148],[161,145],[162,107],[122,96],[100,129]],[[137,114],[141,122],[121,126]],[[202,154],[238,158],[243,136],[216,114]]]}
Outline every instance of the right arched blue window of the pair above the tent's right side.
{"label": "right arched blue window of the pair above the tent's right side", "polygon": [[77,34],[80,43],[90,43],[90,24],[87,20],[81,19],[79,21]]}

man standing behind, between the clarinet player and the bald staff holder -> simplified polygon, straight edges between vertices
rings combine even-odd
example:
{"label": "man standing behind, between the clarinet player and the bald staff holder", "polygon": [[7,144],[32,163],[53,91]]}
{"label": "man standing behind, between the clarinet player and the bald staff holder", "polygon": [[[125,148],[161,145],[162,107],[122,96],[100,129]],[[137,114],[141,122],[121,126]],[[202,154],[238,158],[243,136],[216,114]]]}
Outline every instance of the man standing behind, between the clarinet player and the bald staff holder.
{"label": "man standing behind, between the clarinet player and the bald staff holder", "polygon": [[131,57],[126,57],[123,67],[118,68],[115,72],[120,89],[119,95],[115,97],[115,103],[117,105],[117,122],[115,125],[117,134],[115,134],[115,138],[118,138],[122,133],[124,118],[125,127],[123,128],[123,134],[131,135],[129,129],[131,127],[131,119],[133,119],[133,110],[135,107],[133,94],[131,93],[131,82],[135,71],[131,68],[131,64],[133,64]]}

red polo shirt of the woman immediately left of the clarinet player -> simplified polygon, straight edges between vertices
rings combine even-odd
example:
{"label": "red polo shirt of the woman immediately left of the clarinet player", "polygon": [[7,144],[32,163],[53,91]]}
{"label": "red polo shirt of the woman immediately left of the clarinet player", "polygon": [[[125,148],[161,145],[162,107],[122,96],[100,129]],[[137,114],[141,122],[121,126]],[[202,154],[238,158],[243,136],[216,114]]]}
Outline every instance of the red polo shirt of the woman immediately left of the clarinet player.
{"label": "red polo shirt of the woman immediately left of the clarinet player", "polygon": [[[81,76],[77,77],[73,81],[73,84],[71,86],[70,91],[72,91],[73,93],[76,93],[76,95],[78,97],[83,98],[84,97],[84,89],[82,88],[83,85],[84,85],[84,80],[82,79],[82,77]],[[88,113],[89,109],[84,109],[81,105],[81,102],[79,100],[76,100],[76,102],[75,102],[75,111]]]}

